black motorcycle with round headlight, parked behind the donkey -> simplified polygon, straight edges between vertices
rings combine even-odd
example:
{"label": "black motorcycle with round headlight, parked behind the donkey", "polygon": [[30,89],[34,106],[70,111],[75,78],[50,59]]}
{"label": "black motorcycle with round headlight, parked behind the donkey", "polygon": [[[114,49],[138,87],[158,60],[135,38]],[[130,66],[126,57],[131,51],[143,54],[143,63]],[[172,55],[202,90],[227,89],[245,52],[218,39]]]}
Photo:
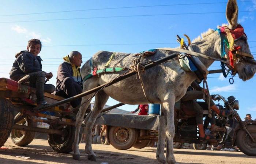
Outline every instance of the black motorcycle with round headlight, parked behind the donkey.
{"label": "black motorcycle with round headlight, parked behind the donkey", "polygon": [[[256,121],[246,120],[242,121],[241,117],[237,113],[239,110],[239,101],[234,96],[230,96],[227,99],[219,94],[212,95],[212,99],[215,101],[223,101],[224,106],[217,105],[219,109],[231,110],[233,113],[228,117],[219,117],[215,114],[214,117],[216,125],[219,126],[216,132],[213,134],[215,139],[212,140],[199,140],[198,132],[195,120],[195,113],[188,112],[181,107],[180,103],[176,103],[175,106],[175,126],[176,133],[174,136],[174,142],[191,143],[203,145],[223,145],[226,148],[237,147],[246,155],[256,156]],[[205,133],[209,133],[208,128],[209,120],[208,108],[204,102],[198,102],[204,109],[204,130]],[[230,122],[233,122],[232,124]],[[237,123],[237,125],[235,125]],[[233,131],[230,133],[230,131]],[[205,148],[203,148],[205,149]]]}

